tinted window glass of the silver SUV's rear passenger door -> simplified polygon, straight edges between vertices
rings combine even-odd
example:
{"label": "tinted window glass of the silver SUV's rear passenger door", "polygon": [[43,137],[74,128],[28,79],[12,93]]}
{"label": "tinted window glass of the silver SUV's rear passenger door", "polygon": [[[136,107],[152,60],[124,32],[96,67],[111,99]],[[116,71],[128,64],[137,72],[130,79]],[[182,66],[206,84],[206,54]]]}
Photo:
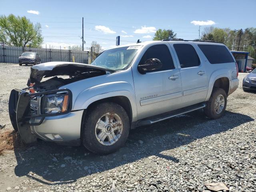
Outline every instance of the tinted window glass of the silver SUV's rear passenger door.
{"label": "tinted window glass of the silver SUV's rear passenger door", "polygon": [[190,44],[174,44],[174,49],[180,61],[181,68],[200,65],[199,57],[194,47]]}

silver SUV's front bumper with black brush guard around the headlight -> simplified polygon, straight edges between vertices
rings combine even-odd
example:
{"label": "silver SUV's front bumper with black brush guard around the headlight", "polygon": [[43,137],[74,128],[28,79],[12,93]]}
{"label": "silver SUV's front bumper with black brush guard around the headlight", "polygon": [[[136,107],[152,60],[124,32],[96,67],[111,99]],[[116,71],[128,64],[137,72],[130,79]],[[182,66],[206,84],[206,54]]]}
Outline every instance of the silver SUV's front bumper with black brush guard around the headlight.
{"label": "silver SUV's front bumper with black brush guard around the headlight", "polygon": [[[65,114],[34,114],[31,109],[31,98],[34,96],[51,94],[52,92],[70,90],[54,90],[30,94],[14,89],[9,99],[9,115],[12,126],[20,133],[25,143],[32,143],[40,138],[45,141],[54,141],[62,144],[80,144],[81,122],[84,110],[71,111],[70,107]],[[71,93],[70,93],[71,94]]]}

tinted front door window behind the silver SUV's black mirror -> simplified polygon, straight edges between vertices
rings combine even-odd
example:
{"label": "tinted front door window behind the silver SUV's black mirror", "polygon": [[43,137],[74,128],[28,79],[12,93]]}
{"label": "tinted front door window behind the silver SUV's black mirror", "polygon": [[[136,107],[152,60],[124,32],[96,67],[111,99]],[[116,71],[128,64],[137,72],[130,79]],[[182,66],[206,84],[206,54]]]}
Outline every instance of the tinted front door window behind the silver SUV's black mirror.
{"label": "tinted front door window behind the silver SUV's black mirror", "polygon": [[146,60],[156,58],[162,62],[162,68],[156,71],[174,69],[174,64],[170,51],[166,45],[153,45],[142,56],[139,65],[143,65]]}

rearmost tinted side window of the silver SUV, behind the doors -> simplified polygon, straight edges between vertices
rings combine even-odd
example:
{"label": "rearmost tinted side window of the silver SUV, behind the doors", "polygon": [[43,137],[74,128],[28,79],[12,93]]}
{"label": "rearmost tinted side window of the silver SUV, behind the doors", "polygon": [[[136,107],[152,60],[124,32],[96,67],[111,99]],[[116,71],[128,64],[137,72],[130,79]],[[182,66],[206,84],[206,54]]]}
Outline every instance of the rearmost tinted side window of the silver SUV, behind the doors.
{"label": "rearmost tinted side window of the silver SUV, behind the doors", "polygon": [[235,62],[225,46],[198,44],[198,47],[202,50],[211,64]]}

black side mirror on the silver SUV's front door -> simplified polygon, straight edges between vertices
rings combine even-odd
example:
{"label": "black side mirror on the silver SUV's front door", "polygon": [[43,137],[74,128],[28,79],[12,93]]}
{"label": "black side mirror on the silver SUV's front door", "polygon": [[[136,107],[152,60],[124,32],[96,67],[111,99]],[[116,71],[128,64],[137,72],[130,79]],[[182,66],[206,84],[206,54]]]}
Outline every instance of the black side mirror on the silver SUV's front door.
{"label": "black side mirror on the silver SUV's front door", "polygon": [[162,68],[162,63],[159,59],[152,58],[146,60],[146,62],[142,65],[138,65],[138,71],[141,74],[146,74],[146,72],[153,72]]}

